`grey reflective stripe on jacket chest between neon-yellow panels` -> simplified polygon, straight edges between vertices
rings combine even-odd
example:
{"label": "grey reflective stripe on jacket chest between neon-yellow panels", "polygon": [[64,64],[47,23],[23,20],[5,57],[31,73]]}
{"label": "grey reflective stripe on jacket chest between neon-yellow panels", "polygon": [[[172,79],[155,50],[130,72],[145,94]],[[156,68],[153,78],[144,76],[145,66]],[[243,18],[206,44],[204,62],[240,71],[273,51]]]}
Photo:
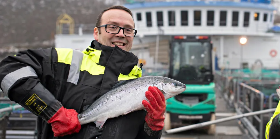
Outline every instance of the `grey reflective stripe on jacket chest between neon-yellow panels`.
{"label": "grey reflective stripe on jacket chest between neon-yellow panels", "polygon": [[80,70],[81,70],[83,57],[84,54],[82,51],[73,49],[71,66],[70,66],[67,82],[74,83],[75,85],[77,85],[80,77]]}

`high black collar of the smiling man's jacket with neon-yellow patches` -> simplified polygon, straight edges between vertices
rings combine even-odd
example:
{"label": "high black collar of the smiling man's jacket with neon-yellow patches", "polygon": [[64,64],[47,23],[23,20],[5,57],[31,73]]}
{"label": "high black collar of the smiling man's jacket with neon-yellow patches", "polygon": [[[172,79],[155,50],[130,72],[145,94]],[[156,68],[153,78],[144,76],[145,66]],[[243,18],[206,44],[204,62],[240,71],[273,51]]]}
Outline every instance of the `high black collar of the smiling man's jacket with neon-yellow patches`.
{"label": "high black collar of the smiling man's jacket with neon-yellow patches", "polygon": [[85,50],[83,50],[83,53],[89,55],[93,62],[104,67],[106,67],[109,58],[112,55],[117,54],[118,59],[123,59],[122,65],[119,65],[119,66],[123,66],[121,68],[120,73],[124,75],[129,75],[129,74],[134,74],[134,71],[132,70],[135,70],[135,73],[139,74],[138,69],[140,68],[137,66],[138,64],[137,56],[135,56],[131,52],[127,52],[120,49],[118,46],[115,47],[105,46],[100,44],[96,40],[93,40],[91,42],[91,45],[88,46]]}

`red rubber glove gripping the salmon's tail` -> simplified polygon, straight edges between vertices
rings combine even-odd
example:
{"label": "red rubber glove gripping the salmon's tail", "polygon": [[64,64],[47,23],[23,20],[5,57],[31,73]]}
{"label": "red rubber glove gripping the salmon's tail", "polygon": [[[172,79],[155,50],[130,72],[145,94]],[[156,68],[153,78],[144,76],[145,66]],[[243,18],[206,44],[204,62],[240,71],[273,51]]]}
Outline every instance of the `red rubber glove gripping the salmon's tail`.
{"label": "red rubber glove gripping the salmon's tail", "polygon": [[78,113],[74,109],[66,109],[63,106],[47,123],[51,124],[55,137],[78,133],[81,130]]}

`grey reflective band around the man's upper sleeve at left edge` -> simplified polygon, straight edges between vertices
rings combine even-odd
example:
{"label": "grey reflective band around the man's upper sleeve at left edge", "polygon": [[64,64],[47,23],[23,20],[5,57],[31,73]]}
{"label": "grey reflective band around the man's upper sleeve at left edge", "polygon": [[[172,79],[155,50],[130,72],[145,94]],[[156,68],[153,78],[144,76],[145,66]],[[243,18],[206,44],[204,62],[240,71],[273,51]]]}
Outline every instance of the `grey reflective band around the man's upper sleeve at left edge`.
{"label": "grey reflective band around the man's upper sleeve at left edge", "polygon": [[35,70],[30,66],[20,68],[16,71],[13,71],[7,74],[1,82],[1,88],[3,89],[3,93],[8,96],[8,91],[11,86],[19,79],[23,77],[38,77]]}

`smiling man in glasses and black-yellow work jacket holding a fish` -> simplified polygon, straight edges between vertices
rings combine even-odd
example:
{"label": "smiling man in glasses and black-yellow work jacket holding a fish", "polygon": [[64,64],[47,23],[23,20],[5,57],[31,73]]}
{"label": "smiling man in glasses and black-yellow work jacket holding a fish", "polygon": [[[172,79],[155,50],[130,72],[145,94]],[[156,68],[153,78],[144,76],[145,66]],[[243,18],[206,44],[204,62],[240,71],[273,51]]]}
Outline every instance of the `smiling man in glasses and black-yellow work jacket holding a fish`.
{"label": "smiling man in glasses and black-yellow work jacket holding a fish", "polygon": [[[138,59],[129,50],[137,33],[131,11],[113,6],[100,13],[91,46],[25,50],[0,63],[1,89],[12,101],[38,116],[38,138],[154,139],[163,129],[165,102],[159,89],[147,88],[146,111],[80,125],[78,113],[114,86],[114,81],[141,77]],[[160,107],[162,106],[162,107]]]}

